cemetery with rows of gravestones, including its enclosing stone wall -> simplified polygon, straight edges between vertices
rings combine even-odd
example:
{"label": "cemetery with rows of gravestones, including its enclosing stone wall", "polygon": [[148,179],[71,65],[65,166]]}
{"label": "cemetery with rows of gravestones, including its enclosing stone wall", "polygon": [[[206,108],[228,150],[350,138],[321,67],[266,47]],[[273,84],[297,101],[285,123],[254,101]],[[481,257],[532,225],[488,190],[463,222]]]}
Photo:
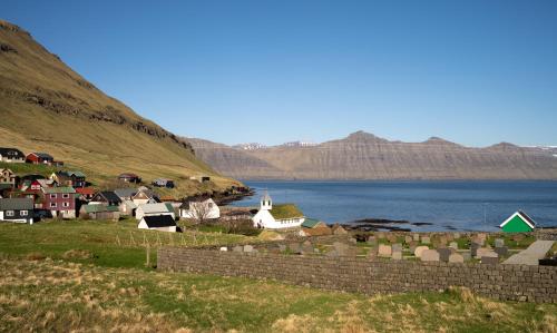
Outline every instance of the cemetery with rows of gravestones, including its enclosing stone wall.
{"label": "cemetery with rows of gravestones, including its enclosing stone wall", "polygon": [[[379,232],[358,239],[335,235],[227,246],[163,247],[158,251],[157,268],[273,278],[364,294],[463,286],[498,300],[557,303],[557,267],[539,265],[538,259],[521,262],[519,256],[538,242],[545,252],[539,259],[551,262],[555,256],[555,242],[539,241],[531,233]],[[510,258],[516,259],[506,263]]]}

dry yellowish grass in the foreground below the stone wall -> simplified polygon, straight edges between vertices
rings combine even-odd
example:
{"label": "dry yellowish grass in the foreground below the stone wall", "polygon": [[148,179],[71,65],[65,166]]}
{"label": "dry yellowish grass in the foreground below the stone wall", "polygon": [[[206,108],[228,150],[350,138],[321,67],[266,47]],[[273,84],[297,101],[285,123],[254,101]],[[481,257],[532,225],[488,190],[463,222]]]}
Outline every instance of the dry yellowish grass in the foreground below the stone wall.
{"label": "dry yellowish grass in the foreground below the stone wall", "polygon": [[556,332],[557,305],[467,290],[367,297],[275,282],[1,259],[0,331]]}

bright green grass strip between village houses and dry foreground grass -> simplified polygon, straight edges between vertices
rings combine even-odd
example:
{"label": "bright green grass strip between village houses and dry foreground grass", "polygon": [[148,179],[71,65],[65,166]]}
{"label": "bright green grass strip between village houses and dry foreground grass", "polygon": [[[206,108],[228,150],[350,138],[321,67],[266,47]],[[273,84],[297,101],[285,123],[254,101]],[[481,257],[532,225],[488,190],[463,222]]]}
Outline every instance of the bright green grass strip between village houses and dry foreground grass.
{"label": "bright green grass strip between village houses and dry foreground grass", "polygon": [[[145,267],[146,248],[156,263],[163,245],[193,246],[248,242],[250,237],[186,231],[183,234],[137,229],[135,219],[50,221],[32,226],[0,223],[0,253],[10,257],[48,256],[106,267]],[[68,257],[69,251],[88,252],[89,257]]]}

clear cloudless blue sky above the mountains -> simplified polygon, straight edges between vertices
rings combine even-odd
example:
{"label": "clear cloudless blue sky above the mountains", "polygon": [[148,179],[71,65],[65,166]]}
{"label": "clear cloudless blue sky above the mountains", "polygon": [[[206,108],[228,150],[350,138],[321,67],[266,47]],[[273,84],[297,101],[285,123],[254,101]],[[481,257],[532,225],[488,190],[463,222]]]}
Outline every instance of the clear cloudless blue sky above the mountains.
{"label": "clear cloudless blue sky above the mountains", "polygon": [[3,0],[0,18],[187,137],[557,145],[553,0]]}

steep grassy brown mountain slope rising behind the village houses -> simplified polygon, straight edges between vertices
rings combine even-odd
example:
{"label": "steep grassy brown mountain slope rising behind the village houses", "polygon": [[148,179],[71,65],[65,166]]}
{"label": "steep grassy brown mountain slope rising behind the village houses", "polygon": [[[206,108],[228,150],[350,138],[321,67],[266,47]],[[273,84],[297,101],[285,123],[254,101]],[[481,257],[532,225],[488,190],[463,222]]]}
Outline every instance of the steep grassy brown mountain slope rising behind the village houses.
{"label": "steep grassy brown mountain slope rising behind the village houses", "polygon": [[[192,146],[141,118],[67,67],[19,27],[0,21],[0,146],[43,150],[100,184],[123,172],[170,177],[176,194],[237,182],[197,159]],[[186,180],[211,175],[213,184]]]}

